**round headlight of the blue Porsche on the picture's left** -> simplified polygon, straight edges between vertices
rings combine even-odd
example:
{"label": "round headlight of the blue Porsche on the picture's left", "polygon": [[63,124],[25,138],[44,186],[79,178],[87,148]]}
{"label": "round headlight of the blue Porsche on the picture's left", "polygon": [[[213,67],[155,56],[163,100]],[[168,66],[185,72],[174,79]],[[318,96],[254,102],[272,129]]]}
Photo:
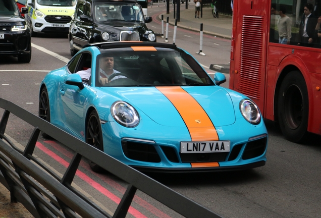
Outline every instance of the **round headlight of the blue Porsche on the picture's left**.
{"label": "round headlight of the blue Porsche on the picture's left", "polygon": [[133,128],[139,124],[139,115],[137,111],[127,102],[114,102],[111,106],[111,114],[116,122],[124,127]]}

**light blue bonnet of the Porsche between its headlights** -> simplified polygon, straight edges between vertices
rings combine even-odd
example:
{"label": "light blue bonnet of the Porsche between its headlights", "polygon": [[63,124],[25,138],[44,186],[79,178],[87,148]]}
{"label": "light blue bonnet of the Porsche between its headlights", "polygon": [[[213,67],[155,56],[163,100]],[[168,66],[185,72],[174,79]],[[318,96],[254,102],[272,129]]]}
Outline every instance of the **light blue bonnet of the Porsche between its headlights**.
{"label": "light blue bonnet of the Porsche between its headlights", "polygon": [[[164,88],[170,89],[172,87],[163,87],[163,90]],[[185,116],[186,112],[188,113],[189,106],[193,103],[191,101],[195,99],[214,126],[226,126],[235,122],[234,106],[229,93],[224,88],[220,86],[190,86],[181,87],[181,89],[184,90],[183,95],[174,93],[174,98],[184,99],[181,103],[185,108],[183,110],[186,110],[184,112]],[[175,103],[173,104],[168,96],[158,90],[157,87],[138,87],[125,90],[124,88],[116,88],[114,94],[132,104],[136,109],[160,125],[186,127],[181,117],[180,109],[177,109],[174,105]],[[185,99],[186,97],[189,99]],[[199,119],[198,112],[196,115],[195,113],[190,114],[193,117],[189,117],[189,119],[195,119],[195,121]]]}

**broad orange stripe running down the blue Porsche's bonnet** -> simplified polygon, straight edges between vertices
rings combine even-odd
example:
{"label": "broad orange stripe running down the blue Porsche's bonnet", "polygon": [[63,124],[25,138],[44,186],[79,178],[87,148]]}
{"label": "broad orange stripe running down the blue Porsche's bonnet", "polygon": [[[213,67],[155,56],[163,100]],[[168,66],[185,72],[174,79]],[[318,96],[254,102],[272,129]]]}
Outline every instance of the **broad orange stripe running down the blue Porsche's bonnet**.
{"label": "broad orange stripe running down the blue Porsche's bonnet", "polygon": [[156,87],[176,107],[188,128],[192,141],[216,141],[218,133],[199,103],[181,87]]}

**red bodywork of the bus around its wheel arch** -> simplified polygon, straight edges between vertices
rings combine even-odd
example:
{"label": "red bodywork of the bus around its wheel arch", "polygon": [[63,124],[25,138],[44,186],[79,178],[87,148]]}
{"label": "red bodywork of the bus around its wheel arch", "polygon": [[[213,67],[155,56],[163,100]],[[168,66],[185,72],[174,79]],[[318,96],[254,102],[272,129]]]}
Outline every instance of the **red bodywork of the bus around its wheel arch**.
{"label": "red bodywork of the bus around its wheel arch", "polygon": [[[234,1],[229,87],[254,100],[265,119],[278,121],[277,98],[283,78],[291,71],[299,71],[308,92],[307,131],[321,135],[321,38],[314,39],[313,44],[298,44],[306,3],[298,2],[292,6],[281,0],[278,4],[287,7],[286,14],[292,20],[292,38],[291,44],[279,44],[277,25],[280,15],[272,15],[274,2]],[[317,2],[321,5],[320,0]],[[314,17],[321,16],[321,8],[314,7],[313,10]],[[318,32],[321,33],[321,28]]]}

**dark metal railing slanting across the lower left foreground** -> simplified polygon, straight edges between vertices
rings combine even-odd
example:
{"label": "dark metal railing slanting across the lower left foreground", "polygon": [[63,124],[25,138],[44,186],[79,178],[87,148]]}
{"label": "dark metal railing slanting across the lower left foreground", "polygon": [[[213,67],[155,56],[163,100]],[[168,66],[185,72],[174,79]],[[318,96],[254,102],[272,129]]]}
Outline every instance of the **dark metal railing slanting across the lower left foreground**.
{"label": "dark metal railing slanting across the lower left foreground", "polygon": [[[36,218],[125,217],[137,189],[185,217],[221,217],[10,101],[0,98],[0,107],[5,110],[0,122],[0,182],[11,201],[21,202]],[[34,127],[24,150],[5,135],[10,114]],[[33,155],[40,131],[75,152],[63,178]],[[113,216],[71,185],[82,157],[129,183]]]}

